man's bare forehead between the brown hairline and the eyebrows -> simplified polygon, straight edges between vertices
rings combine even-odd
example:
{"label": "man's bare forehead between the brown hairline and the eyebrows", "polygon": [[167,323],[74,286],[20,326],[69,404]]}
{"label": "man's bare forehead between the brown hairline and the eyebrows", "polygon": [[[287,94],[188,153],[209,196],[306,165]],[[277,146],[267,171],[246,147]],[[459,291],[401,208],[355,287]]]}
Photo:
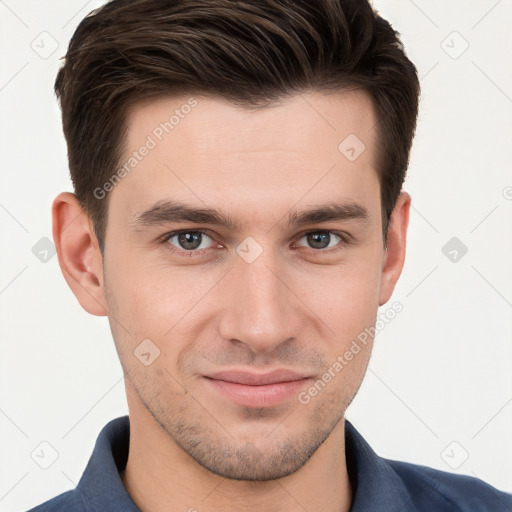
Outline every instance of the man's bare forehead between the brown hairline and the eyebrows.
{"label": "man's bare forehead between the brown hairline and the eyebrows", "polygon": [[130,221],[166,199],[235,216],[368,203],[378,183],[375,121],[363,91],[297,94],[260,109],[205,96],[140,102],[127,117],[130,165],[111,207]]}

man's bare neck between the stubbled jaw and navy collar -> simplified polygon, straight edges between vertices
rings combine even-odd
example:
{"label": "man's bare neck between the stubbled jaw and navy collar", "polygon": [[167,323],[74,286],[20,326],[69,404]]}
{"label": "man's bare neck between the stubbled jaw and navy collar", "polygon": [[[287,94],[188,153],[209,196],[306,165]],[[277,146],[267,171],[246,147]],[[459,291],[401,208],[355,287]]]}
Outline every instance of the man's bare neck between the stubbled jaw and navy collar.
{"label": "man's bare neck between the stubbled jaw and navy collar", "polygon": [[344,427],[342,419],[295,473],[269,481],[232,480],[198,464],[138,402],[130,406],[129,455],[120,476],[141,511],[347,512],[352,490]]}

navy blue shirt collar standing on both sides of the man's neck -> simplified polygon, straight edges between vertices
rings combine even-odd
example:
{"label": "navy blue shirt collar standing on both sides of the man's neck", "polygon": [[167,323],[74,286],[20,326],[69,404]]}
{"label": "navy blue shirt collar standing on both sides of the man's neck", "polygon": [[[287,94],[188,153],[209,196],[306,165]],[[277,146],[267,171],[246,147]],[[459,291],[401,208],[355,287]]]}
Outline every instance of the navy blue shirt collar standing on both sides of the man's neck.
{"label": "navy blue shirt collar standing on both sides of the man's neck", "polygon": [[[98,435],[77,486],[88,511],[140,512],[119,476],[128,460],[129,440],[128,416],[110,421]],[[403,482],[386,459],[372,450],[348,420],[345,420],[345,451],[353,491],[350,512],[398,512],[406,507],[412,510]]]}

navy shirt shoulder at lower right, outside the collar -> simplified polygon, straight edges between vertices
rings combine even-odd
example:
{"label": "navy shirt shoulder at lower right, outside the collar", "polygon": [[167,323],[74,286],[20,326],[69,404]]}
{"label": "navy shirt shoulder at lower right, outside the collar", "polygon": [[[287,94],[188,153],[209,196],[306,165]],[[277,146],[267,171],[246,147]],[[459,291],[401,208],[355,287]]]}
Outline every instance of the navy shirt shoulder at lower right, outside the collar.
{"label": "navy shirt shoulder at lower right, outside the collar", "polygon": [[[403,482],[415,504],[436,511],[511,512],[512,494],[466,475],[418,464],[386,460]],[[434,508],[432,508],[434,510]]]}

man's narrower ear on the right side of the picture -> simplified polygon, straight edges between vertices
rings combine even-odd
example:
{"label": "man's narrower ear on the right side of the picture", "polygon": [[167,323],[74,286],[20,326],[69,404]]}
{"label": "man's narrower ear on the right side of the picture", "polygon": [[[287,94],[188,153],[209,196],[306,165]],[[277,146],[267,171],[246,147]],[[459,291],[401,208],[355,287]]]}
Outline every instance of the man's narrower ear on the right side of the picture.
{"label": "man's narrower ear on the right side of the picture", "polygon": [[402,273],[405,261],[410,207],[411,196],[407,192],[402,191],[398,196],[390,218],[388,246],[384,252],[382,264],[379,306],[382,306],[390,299],[398,278]]}

